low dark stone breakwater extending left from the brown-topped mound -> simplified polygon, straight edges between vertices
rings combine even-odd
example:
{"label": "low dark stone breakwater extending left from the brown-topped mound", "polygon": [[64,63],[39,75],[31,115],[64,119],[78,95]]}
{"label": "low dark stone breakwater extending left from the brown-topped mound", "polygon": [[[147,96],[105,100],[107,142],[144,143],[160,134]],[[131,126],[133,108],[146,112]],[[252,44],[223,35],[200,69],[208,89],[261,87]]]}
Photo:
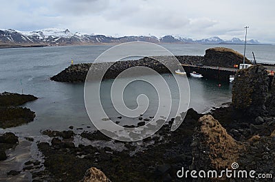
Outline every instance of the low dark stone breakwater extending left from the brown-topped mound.
{"label": "low dark stone breakwater extending left from the brown-topped mound", "polygon": [[[199,65],[203,63],[203,56],[175,56],[181,64]],[[94,73],[100,73],[104,68],[109,67],[109,70],[104,75],[104,79],[112,79],[118,76],[122,71],[136,66],[144,66],[154,69],[158,73],[169,73],[170,71],[159,61],[162,60],[167,65],[170,64],[172,56],[154,56],[153,58],[141,58],[139,60],[124,60],[118,62],[100,62],[94,63]],[[92,63],[81,63],[70,65],[65,70],[50,78],[57,82],[85,82],[87,73]],[[110,67],[111,66],[111,67]],[[176,67],[175,67],[176,68]]]}

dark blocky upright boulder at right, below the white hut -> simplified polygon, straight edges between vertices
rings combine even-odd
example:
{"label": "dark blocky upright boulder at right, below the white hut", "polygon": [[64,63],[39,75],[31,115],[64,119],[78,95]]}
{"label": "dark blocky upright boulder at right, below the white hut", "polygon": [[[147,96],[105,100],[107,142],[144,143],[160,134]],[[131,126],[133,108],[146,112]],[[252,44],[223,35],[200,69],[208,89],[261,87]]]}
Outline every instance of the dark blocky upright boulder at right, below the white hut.
{"label": "dark blocky upright boulder at right, below the white hut", "polygon": [[262,115],[268,91],[267,71],[262,65],[254,65],[236,72],[232,87],[234,109],[246,115]]}

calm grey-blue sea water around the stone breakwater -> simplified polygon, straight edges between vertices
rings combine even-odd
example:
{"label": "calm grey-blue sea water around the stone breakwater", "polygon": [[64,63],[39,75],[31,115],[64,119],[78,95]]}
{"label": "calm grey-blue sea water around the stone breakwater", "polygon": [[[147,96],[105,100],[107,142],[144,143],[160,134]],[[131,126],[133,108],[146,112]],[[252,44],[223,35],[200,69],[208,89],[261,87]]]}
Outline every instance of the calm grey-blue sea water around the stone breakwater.
{"label": "calm grey-blue sea water around the stone breakwater", "polygon": [[[175,55],[203,56],[205,50],[217,45],[162,45]],[[0,92],[10,91],[32,94],[39,100],[25,104],[36,112],[34,122],[23,126],[9,128],[17,135],[37,136],[41,130],[67,130],[69,126],[87,129],[92,126],[85,110],[83,99],[84,84],[54,82],[49,78],[69,66],[71,59],[74,63],[93,62],[104,50],[111,45],[67,46],[0,49]],[[225,45],[243,53],[243,45]],[[275,63],[274,45],[248,45],[246,55],[252,59],[252,51],[258,62]],[[157,52],[155,52],[157,55]],[[166,80],[170,75],[164,75]],[[190,107],[199,112],[208,111],[212,106],[219,106],[231,99],[231,85],[214,80],[188,78],[190,83]],[[218,84],[221,83],[221,87]],[[170,81],[171,87],[175,83]],[[109,87],[111,80],[103,83]],[[151,95],[151,107],[148,116],[155,112],[157,103],[154,91],[148,91],[148,85],[143,82],[133,84],[127,89],[125,97],[129,105],[135,105],[137,93]],[[150,99],[150,97],[149,97]],[[173,98],[177,100],[177,97]],[[106,103],[109,101],[106,100]],[[110,111],[111,113],[111,111]],[[117,117],[113,113],[113,117]],[[131,124],[132,120],[122,120],[122,124]],[[1,130],[0,130],[1,132]]]}

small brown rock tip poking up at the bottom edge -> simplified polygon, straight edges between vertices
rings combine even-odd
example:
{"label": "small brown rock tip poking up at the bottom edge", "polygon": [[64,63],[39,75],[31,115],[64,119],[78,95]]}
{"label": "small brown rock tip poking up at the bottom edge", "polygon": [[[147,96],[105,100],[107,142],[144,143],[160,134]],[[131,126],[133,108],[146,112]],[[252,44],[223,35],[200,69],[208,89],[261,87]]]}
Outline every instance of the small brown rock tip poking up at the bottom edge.
{"label": "small brown rock tip poking up at the bottom edge", "polygon": [[81,182],[111,182],[105,174],[97,168],[89,168]]}

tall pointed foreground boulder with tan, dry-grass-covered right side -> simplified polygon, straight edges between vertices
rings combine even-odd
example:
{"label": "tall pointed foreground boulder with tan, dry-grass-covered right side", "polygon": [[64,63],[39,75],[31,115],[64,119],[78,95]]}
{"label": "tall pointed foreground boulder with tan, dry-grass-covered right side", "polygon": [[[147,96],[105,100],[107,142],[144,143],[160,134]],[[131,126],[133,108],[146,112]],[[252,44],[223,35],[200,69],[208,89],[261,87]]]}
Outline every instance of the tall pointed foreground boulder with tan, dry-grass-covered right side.
{"label": "tall pointed foreground boulder with tan, dry-grass-covered right side", "polygon": [[242,148],[212,115],[199,118],[199,125],[192,137],[193,170],[230,168],[238,159]]}

